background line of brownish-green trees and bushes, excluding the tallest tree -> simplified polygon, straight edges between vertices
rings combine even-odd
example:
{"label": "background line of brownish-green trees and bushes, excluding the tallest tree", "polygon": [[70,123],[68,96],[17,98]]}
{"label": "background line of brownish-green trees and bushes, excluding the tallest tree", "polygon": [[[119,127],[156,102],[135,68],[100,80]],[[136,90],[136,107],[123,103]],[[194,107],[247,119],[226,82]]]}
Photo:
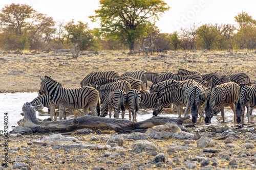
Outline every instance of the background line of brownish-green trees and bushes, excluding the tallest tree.
{"label": "background line of brownish-green trees and bushes, excluding the tallest tree", "polygon": [[[234,19],[237,25],[194,24],[172,34],[161,33],[157,27],[152,27],[138,38],[135,48],[153,42],[153,48],[158,51],[255,49],[256,20],[244,11]],[[4,51],[69,49],[75,43],[80,51],[129,50],[118,38],[102,34],[100,29],[90,29],[88,23],[54,21],[28,5],[6,5],[0,12],[0,49]]]}

